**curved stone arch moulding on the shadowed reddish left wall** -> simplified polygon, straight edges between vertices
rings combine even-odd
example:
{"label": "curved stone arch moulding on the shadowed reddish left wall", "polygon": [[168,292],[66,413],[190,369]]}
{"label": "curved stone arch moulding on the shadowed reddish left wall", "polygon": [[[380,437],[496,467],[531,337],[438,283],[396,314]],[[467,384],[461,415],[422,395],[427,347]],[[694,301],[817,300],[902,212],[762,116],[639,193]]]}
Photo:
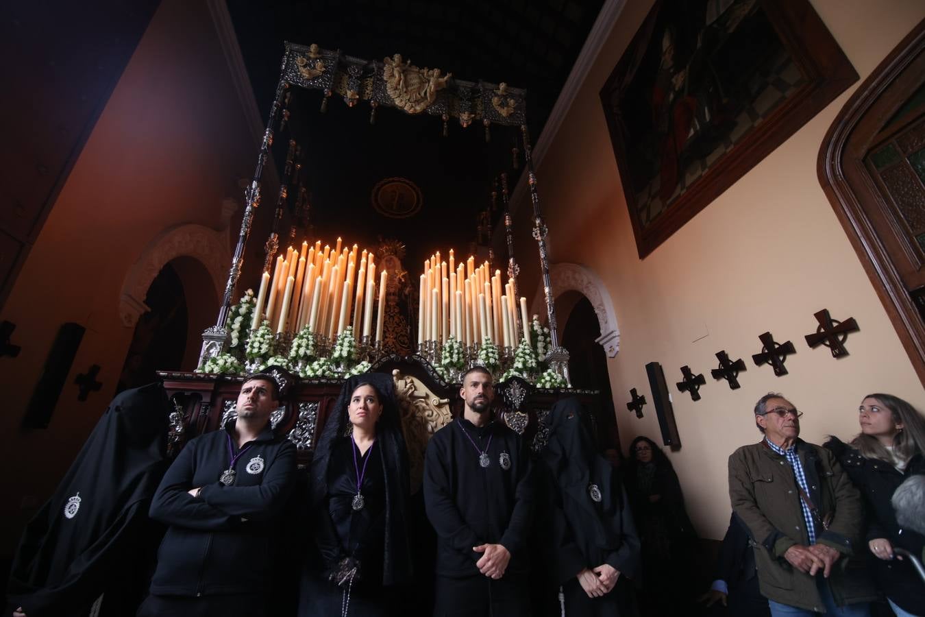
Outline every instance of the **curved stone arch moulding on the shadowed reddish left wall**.
{"label": "curved stone arch moulding on the shadowed reddish left wall", "polygon": [[144,297],[151,282],[166,263],[177,257],[191,257],[201,262],[215,286],[217,297],[223,296],[231,263],[227,229],[216,231],[192,224],[168,228],[142,251],[122,284],[118,312],[125,327],[135,327],[138,318],[149,310]]}

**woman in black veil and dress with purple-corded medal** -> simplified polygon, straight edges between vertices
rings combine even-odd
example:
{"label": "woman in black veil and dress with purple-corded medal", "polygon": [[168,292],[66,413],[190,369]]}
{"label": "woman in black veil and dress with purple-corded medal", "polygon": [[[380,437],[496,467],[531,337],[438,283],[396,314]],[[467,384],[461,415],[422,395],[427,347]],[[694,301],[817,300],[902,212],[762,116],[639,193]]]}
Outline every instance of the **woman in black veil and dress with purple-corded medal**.
{"label": "woman in black veil and dress with purple-corded medal", "polygon": [[306,564],[300,617],[387,615],[410,580],[410,475],[392,377],[350,377],[314,450],[309,512],[318,554]]}

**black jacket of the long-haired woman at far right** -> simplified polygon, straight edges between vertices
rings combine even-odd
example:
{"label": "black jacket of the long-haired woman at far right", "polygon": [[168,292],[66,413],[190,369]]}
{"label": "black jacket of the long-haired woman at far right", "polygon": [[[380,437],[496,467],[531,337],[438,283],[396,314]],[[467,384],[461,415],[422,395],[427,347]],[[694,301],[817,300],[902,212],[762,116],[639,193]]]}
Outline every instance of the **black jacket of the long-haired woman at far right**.
{"label": "black jacket of the long-haired woman at far right", "polygon": [[[902,547],[921,555],[925,548],[925,537],[911,529],[904,529],[896,523],[893,493],[910,475],[925,474],[925,457],[921,452],[913,456],[902,472],[892,464],[879,459],[864,458],[861,453],[838,438],[825,442],[825,447],[832,450],[848,477],[864,496],[868,511],[868,524],[865,539],[870,541],[885,537],[894,547]],[[870,552],[864,549],[865,552]],[[870,556],[870,567],[877,581],[877,586],[900,608],[917,615],[925,615],[925,587],[921,579],[907,561],[883,561]]]}

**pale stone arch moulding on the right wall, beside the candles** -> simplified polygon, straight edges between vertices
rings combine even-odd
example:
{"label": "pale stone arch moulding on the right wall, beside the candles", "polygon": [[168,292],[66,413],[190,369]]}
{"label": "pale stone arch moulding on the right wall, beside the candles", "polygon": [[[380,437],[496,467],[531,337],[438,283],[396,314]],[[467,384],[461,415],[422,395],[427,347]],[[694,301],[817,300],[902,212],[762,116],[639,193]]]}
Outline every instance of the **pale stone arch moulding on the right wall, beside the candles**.
{"label": "pale stone arch moulding on the right wall, beside the candles", "polygon": [[[615,358],[617,352],[620,352],[620,328],[617,327],[617,316],[613,311],[611,294],[604,286],[604,281],[585,266],[577,264],[550,265],[549,278],[552,283],[554,300],[559,301],[562,296],[568,300],[569,296],[573,296],[571,292],[577,291],[591,302],[600,325],[600,336],[596,342],[607,352],[607,357]],[[568,319],[568,314],[571,313],[575,302],[564,302],[564,304],[565,310],[562,311],[563,314],[560,314],[560,302],[556,302],[556,321],[560,328]],[[542,289],[536,290],[533,314],[546,315],[546,301]]]}

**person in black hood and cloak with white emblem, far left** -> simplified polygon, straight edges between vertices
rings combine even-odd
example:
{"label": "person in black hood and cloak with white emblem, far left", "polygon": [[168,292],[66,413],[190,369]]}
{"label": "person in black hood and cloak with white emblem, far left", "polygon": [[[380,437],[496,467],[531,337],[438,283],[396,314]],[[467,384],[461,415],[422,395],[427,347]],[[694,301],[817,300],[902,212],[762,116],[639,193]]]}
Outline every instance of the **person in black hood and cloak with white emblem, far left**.
{"label": "person in black hood and cloak with white emblem, far left", "polygon": [[148,506],[166,471],[170,403],[159,384],[117,395],[55,494],[27,525],[13,560],[6,615],[131,615],[164,527]]}

